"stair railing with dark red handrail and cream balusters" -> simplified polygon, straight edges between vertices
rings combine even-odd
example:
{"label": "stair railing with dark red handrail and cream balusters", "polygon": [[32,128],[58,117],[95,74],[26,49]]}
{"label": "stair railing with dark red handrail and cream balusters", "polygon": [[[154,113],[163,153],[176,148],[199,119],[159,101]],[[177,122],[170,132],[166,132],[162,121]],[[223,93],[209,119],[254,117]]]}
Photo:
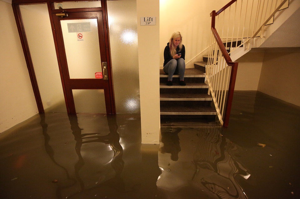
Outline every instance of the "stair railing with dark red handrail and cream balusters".
{"label": "stair railing with dark red handrail and cream balusters", "polygon": [[[267,5],[268,5],[269,0],[266,0],[266,1],[267,1]],[[229,56],[229,53],[231,53],[232,50],[230,49],[230,46],[229,46],[229,50],[231,50],[231,51],[228,53],[228,51],[226,50],[227,44],[226,44],[226,46],[224,45],[224,42],[222,41],[220,35],[217,32],[217,29],[219,29],[220,27],[217,27],[216,18],[219,14],[221,14],[226,9],[228,10],[228,8],[229,8],[229,10],[230,10],[231,5],[236,3],[236,2],[237,2],[237,0],[230,0],[230,2],[227,3],[224,7],[222,7],[219,11],[216,12],[215,10],[213,10],[210,13],[210,16],[212,17],[211,31],[212,31],[213,37],[211,37],[211,39],[212,39],[212,43],[211,43],[212,49],[210,50],[210,55],[209,55],[209,59],[208,59],[211,63],[210,64],[208,63],[208,65],[207,65],[208,69],[209,69],[208,74],[210,75],[210,76],[209,75],[207,76],[207,82],[209,84],[209,88],[211,89],[209,92],[211,92],[211,94],[212,94],[213,102],[216,106],[218,117],[220,119],[221,124],[223,124],[224,127],[227,127],[228,123],[229,123],[229,116],[230,116],[233,93],[234,93],[234,87],[235,87],[235,81],[236,81],[236,76],[237,76],[238,62],[233,62],[231,60],[231,57]],[[253,2],[254,2],[254,0],[253,0]],[[251,15],[252,15],[253,2],[252,2],[252,8],[250,10],[251,11],[250,16],[248,16],[248,17],[251,17]],[[274,16],[274,14],[286,2],[287,2],[287,0],[280,0],[280,4],[279,4],[279,6],[277,6],[277,1],[276,1],[275,8],[274,8],[274,10],[272,10],[273,9],[272,8],[273,7],[272,3],[268,8],[263,9],[264,5],[265,5],[265,1],[258,1],[257,2],[257,13],[255,14],[254,26],[251,27],[251,29],[253,28],[253,34],[250,33],[251,35],[249,35],[250,22],[251,21],[248,22],[249,27],[246,27],[246,29],[248,28],[248,33],[247,33],[246,37],[244,37],[244,32],[243,32],[245,27],[243,28],[241,35],[239,35],[239,27],[238,27],[237,28],[238,31],[237,31],[237,33],[235,33],[235,34],[237,34],[238,38],[235,37],[236,38],[236,46],[234,46],[234,49],[237,49],[239,46],[245,44],[246,42],[248,42],[248,44],[249,44],[249,41],[251,39],[253,39],[254,37],[256,37],[259,32],[263,32],[262,29],[267,24],[267,22]],[[262,8],[260,10],[261,3],[262,3]],[[241,15],[242,8],[243,8],[242,5],[243,4],[241,3],[241,5],[240,5],[241,7],[239,7],[239,8],[237,8],[237,5],[236,5],[235,11],[234,11],[234,18],[232,20],[235,20],[235,17],[236,17],[235,12],[236,12],[237,9],[240,9],[238,11],[240,12],[240,15]],[[248,1],[245,5],[246,6],[246,11],[244,13],[244,16],[245,16],[244,17],[245,18],[244,25],[245,25],[245,22],[246,22],[247,5],[248,5]],[[269,9],[270,9],[270,11],[268,11]],[[222,13],[222,14],[225,16],[225,12]],[[261,14],[261,16],[259,14]],[[264,15],[264,17],[263,17],[263,15]],[[220,17],[220,18],[222,19],[222,17]],[[224,22],[224,18],[223,18],[223,22]],[[228,20],[229,20],[229,22],[232,22],[232,21],[230,21],[230,14],[229,14]],[[218,20],[217,20],[217,22],[220,23]],[[233,24],[234,23],[235,22],[233,22]],[[240,26],[240,25],[242,25],[242,23],[240,24],[239,20],[238,20],[238,26]],[[257,26],[259,28],[257,28]],[[233,27],[234,27],[234,25],[233,25]],[[227,28],[227,29],[228,29],[227,30],[227,37],[228,37],[228,32],[230,32],[230,31],[229,31],[229,28]],[[234,30],[234,28],[232,29],[232,33],[231,33],[232,34],[232,38],[231,38],[231,42],[230,42],[231,46],[232,46],[232,43],[233,43],[233,30]],[[222,34],[223,34],[224,27],[221,31],[222,31]],[[222,38],[224,38],[224,39],[226,38],[225,43],[227,43],[228,38],[226,36],[223,37],[222,34],[221,34]],[[242,42],[239,46],[237,46],[237,42],[238,42],[237,40],[238,39],[242,40]],[[216,51],[217,51],[217,53],[215,53]],[[218,56],[218,57],[216,57],[216,56]],[[227,70],[229,68],[228,66],[231,66],[231,73]],[[225,71],[226,76],[223,75],[224,71]],[[229,85],[227,84],[228,83],[228,81],[227,81],[228,80],[228,72],[230,73]],[[211,81],[211,79],[212,79],[212,81]],[[223,80],[223,79],[224,80],[226,79],[226,81],[227,81],[225,87],[223,87],[224,86],[224,81],[223,81],[223,85],[220,84],[220,81]],[[226,89],[228,89],[228,91],[226,91]],[[221,94],[225,93],[224,98],[222,98],[223,95],[219,95],[220,93]],[[226,93],[228,95],[226,95]],[[221,98],[222,98],[223,102],[221,102],[221,100],[219,100]],[[227,98],[227,101],[225,103],[226,98]],[[224,115],[223,115],[223,113],[224,113]]]}

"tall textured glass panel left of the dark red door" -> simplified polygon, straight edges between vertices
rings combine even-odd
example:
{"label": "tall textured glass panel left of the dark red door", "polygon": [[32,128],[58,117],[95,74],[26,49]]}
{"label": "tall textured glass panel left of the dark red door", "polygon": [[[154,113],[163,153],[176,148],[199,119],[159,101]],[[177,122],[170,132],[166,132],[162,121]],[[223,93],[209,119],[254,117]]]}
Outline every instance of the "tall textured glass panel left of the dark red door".
{"label": "tall textured glass panel left of the dark red door", "polygon": [[43,107],[67,112],[47,4],[20,5],[20,11]]}

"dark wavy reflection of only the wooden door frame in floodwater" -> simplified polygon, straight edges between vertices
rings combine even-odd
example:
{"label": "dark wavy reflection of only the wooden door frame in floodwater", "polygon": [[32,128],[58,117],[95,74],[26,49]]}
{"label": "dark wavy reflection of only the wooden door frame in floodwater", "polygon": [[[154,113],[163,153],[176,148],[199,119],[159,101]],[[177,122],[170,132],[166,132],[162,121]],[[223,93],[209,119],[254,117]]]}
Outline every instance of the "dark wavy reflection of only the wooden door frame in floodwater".
{"label": "dark wavy reflection of only the wooden door frame in floodwater", "polygon": [[[118,134],[118,125],[116,122],[116,118],[112,115],[107,115],[107,121],[108,121],[108,127],[109,127],[109,133],[107,135],[104,136],[99,136],[97,135],[98,133],[85,133],[82,134],[82,130],[79,125],[78,125],[78,118],[77,115],[68,115],[69,117],[69,121],[71,124],[71,130],[72,133],[74,135],[74,139],[76,141],[75,143],[75,152],[78,156],[78,161],[75,163],[74,165],[74,170],[75,170],[75,177],[71,178],[69,171],[67,168],[61,166],[59,163],[57,163],[57,161],[54,158],[54,151],[53,148],[50,146],[49,141],[50,141],[50,136],[47,133],[48,131],[48,125],[45,122],[45,114],[40,114],[41,117],[41,126],[42,126],[42,130],[43,130],[43,135],[44,135],[44,139],[45,139],[45,150],[48,154],[48,156],[51,158],[51,160],[58,166],[61,167],[63,169],[64,172],[66,172],[67,175],[67,179],[70,181],[70,183],[68,183],[67,185],[65,183],[60,184],[58,183],[58,188],[56,190],[56,194],[58,198],[63,198],[63,190],[67,190],[70,187],[76,186],[77,181],[80,184],[80,191],[77,193],[71,193],[71,195],[69,194],[68,198],[70,197],[75,197],[78,195],[82,195],[84,193],[87,193],[90,190],[93,189],[101,189],[101,187],[103,187],[103,189],[105,189],[105,187],[111,187],[115,190],[119,190],[119,189],[124,189],[124,183],[120,177],[122,171],[123,171],[123,167],[124,167],[124,161],[122,159],[123,156],[123,148],[120,144],[120,136]],[[93,182],[95,184],[95,186],[91,187],[91,188],[85,188],[85,183],[82,180],[82,177],[80,177],[79,171],[81,170],[81,168],[83,167],[83,165],[85,164],[84,159],[81,155],[81,148],[83,144],[86,143],[95,143],[95,142],[99,142],[99,143],[105,143],[105,144],[109,144],[111,149],[114,152],[114,155],[110,161],[111,166],[113,167],[113,170],[115,172],[114,177],[107,179],[106,181],[102,181],[101,179],[98,180],[98,182]],[[100,153],[101,151],[99,151]],[[68,158],[68,157],[67,157]],[[95,167],[99,166],[99,165],[94,165]],[[118,185],[118,186],[115,186]],[[122,190],[121,190],[122,191]]]}

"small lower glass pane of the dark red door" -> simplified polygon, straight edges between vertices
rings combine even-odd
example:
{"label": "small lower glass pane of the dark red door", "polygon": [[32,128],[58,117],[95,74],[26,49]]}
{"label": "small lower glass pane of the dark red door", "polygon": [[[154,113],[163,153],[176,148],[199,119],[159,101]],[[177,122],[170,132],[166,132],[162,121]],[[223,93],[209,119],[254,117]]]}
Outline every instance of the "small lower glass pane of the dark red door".
{"label": "small lower glass pane of the dark red door", "polygon": [[106,114],[103,89],[72,90],[76,113]]}

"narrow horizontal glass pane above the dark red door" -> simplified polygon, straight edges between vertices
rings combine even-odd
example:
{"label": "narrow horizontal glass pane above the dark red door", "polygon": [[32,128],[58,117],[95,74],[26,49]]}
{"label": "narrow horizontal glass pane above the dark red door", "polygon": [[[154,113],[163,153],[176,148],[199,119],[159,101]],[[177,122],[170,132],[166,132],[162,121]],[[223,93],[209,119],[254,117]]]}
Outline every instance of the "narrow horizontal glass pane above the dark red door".
{"label": "narrow horizontal glass pane above the dark red door", "polygon": [[101,1],[67,1],[67,2],[54,2],[54,9],[59,9],[58,6],[63,9],[69,8],[91,8],[91,7],[101,7]]}

